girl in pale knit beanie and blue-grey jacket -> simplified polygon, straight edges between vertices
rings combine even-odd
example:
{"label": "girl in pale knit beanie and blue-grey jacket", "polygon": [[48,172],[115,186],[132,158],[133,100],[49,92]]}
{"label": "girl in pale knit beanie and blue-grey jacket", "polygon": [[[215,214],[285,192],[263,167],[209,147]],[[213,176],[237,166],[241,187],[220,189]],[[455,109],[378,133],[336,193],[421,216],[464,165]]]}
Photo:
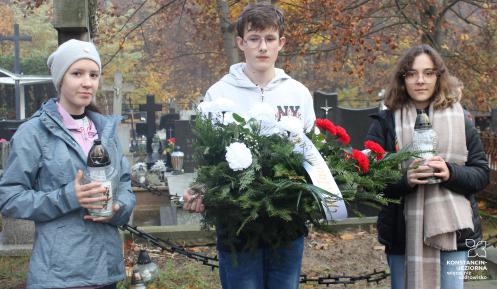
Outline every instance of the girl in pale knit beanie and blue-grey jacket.
{"label": "girl in pale knit beanie and blue-grey jacket", "polygon": [[[11,139],[0,212],[35,223],[27,288],[116,288],[126,277],[118,226],[128,222],[135,205],[130,167],[117,139],[120,117],[100,114],[94,103],[101,62],[93,44],[69,40],[47,64],[58,96]],[[118,172],[109,217],[87,211],[101,208],[95,202],[106,199],[102,184],[82,183],[95,139]]]}

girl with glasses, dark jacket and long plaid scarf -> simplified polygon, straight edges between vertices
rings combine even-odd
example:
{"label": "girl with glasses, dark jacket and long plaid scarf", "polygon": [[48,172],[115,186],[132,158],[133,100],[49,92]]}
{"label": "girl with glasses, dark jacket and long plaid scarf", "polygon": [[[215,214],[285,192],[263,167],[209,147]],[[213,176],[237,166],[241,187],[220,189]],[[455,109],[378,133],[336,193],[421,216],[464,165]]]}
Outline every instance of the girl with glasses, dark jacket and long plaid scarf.
{"label": "girl with glasses, dark jacket and long plaid scarf", "polygon": [[[415,159],[387,186],[378,238],[385,245],[392,289],[462,289],[468,251],[481,240],[474,194],[489,182],[478,131],[460,101],[440,54],[428,45],[399,59],[385,97],[387,110],[374,116],[367,139],[388,151],[412,142],[417,111],[425,111],[438,136],[438,155]],[[428,184],[435,176],[441,183]]]}

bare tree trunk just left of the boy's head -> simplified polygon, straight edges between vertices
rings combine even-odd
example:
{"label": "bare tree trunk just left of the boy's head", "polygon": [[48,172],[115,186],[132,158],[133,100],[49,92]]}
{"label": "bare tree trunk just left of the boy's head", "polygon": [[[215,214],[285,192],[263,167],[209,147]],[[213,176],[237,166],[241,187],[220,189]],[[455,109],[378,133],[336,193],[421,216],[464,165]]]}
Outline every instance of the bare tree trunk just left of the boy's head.
{"label": "bare tree trunk just left of the boy's head", "polygon": [[221,24],[221,32],[223,33],[223,47],[228,57],[228,63],[229,65],[238,63],[240,55],[235,45],[235,31],[234,25],[230,21],[228,2],[226,0],[217,0],[216,8],[219,13],[219,22]]}

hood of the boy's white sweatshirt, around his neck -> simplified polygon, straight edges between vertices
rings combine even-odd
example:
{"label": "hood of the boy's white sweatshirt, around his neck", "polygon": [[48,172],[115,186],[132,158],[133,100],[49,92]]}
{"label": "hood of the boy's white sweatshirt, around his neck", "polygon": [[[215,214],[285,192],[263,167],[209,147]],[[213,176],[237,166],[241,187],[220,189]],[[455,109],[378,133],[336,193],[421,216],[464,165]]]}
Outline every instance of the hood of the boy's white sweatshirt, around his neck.
{"label": "hood of the boy's white sweatshirt, around his neck", "polygon": [[[243,88],[257,87],[243,72],[245,63],[237,63],[230,66],[230,72],[221,78],[222,82],[230,85]],[[271,90],[276,87],[280,82],[291,79],[291,77],[283,71],[283,69],[275,68],[274,78],[264,87],[265,90]]]}

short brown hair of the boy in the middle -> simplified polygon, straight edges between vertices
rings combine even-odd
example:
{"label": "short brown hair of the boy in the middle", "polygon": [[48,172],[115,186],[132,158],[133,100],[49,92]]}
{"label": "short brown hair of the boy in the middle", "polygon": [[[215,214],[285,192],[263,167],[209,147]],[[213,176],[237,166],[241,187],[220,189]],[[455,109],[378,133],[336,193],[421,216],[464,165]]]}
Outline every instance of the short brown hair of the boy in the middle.
{"label": "short brown hair of the boy in the middle", "polygon": [[245,28],[255,31],[274,28],[278,30],[279,36],[283,37],[285,32],[283,11],[268,3],[249,4],[236,22],[238,36],[243,38]]}

